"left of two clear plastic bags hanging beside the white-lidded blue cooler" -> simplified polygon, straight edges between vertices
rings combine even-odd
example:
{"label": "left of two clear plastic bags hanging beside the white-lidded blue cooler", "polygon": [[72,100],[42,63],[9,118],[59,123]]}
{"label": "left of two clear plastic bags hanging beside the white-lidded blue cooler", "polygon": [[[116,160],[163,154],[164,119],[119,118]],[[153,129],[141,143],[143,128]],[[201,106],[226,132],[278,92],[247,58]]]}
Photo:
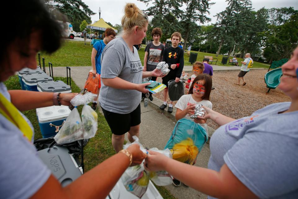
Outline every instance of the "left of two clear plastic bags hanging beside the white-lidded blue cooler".
{"label": "left of two clear plastic bags hanging beside the white-lidded blue cooler", "polygon": [[57,144],[65,144],[83,139],[82,121],[77,108],[74,108],[70,112],[54,139]]}

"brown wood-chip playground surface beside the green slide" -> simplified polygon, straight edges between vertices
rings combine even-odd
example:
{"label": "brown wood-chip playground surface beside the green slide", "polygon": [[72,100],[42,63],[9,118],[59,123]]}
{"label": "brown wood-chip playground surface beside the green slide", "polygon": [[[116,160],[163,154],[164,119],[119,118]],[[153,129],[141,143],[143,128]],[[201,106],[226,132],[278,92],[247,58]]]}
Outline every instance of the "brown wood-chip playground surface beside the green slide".
{"label": "brown wood-chip playground surface beside the green slide", "polygon": [[[251,70],[248,72],[245,76],[247,83],[245,86],[236,85],[239,71],[214,72],[213,86],[215,89],[211,91],[210,95],[213,110],[228,117],[238,119],[249,116],[254,111],[269,104],[291,101],[291,99],[278,88],[271,89],[269,94],[266,94],[268,90],[264,82],[264,75],[267,72],[266,69]],[[191,75],[192,73],[189,73],[189,76]],[[157,81],[161,82],[161,78],[158,77]],[[240,84],[242,85],[242,83],[241,80]],[[188,89],[185,88],[185,93],[187,93],[187,91]],[[163,100],[162,91],[154,96]],[[176,102],[173,104],[175,105]],[[208,120],[207,124],[214,129],[219,127],[219,125],[212,120]]]}

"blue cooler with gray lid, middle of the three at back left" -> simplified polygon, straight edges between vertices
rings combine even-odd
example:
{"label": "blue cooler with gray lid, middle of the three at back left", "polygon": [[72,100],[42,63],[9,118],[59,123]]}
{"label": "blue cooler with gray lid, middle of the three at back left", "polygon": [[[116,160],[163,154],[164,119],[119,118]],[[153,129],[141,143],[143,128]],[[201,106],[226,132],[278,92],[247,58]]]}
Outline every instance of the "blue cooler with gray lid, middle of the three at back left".
{"label": "blue cooler with gray lid, middle of the three at back left", "polygon": [[39,81],[53,81],[53,78],[44,72],[29,73],[22,75],[22,81],[26,90],[37,90],[37,82]]}

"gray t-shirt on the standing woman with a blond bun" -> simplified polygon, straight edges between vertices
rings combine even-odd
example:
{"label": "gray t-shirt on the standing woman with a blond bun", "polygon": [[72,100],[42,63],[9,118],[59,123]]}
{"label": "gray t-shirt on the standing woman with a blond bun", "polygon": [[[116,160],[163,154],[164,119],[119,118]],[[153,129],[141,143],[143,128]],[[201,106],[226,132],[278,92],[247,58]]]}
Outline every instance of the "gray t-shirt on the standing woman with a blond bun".
{"label": "gray t-shirt on the standing woman with a blond bun", "polygon": [[[106,45],[101,57],[101,78],[119,77],[135,84],[142,83],[142,63],[138,51],[129,49],[120,37]],[[103,109],[120,114],[131,113],[141,102],[142,93],[105,86],[101,80],[99,103]]]}

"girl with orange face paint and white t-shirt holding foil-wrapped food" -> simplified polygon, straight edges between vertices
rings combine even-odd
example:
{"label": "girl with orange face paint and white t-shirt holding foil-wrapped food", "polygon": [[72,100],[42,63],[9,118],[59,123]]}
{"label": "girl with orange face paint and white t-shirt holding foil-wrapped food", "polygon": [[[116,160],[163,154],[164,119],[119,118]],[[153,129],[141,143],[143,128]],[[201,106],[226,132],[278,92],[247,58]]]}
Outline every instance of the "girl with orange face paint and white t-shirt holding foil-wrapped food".
{"label": "girl with orange face paint and white t-shirt holding foil-wrapped food", "polygon": [[[212,103],[209,101],[212,87],[212,79],[208,74],[199,74],[194,78],[187,95],[183,95],[175,105],[177,108],[176,119],[189,118],[193,114],[196,104],[202,104],[212,109]],[[205,123],[205,120],[194,119],[196,123]]]}

